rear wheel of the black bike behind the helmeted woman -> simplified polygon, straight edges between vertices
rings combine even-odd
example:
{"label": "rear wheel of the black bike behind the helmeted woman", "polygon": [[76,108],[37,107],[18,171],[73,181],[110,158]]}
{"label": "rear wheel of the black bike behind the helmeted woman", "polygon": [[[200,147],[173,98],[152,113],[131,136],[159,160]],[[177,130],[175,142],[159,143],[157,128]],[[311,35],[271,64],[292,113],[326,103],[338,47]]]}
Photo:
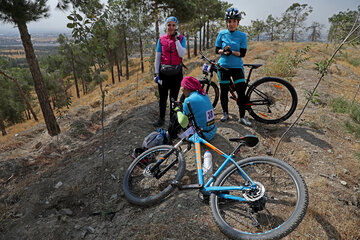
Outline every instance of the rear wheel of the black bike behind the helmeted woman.
{"label": "rear wheel of the black bike behind the helmeted woman", "polygon": [[246,93],[248,111],[257,121],[276,124],[288,119],[297,106],[294,87],[286,80],[265,77],[255,81]]}

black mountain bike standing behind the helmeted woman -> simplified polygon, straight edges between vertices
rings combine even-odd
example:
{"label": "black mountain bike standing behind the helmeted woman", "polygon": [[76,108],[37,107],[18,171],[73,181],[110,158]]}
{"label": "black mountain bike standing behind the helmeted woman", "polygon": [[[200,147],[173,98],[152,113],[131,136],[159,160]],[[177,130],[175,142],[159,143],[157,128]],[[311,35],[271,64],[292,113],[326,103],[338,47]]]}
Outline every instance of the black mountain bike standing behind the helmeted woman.
{"label": "black mountain bike standing behind the helmeted woman", "polygon": [[[203,65],[204,76],[199,79],[202,88],[206,91],[212,100],[215,108],[219,101],[219,87],[216,82],[212,81],[214,72],[228,71],[218,65],[214,60],[208,59],[202,52],[201,59],[208,62]],[[262,66],[262,64],[244,64],[249,67],[249,73],[245,80],[246,90],[246,110],[249,114],[259,122],[276,124],[285,121],[295,112],[298,98],[295,88],[286,80],[277,77],[263,77],[249,85],[251,73],[254,69]],[[237,101],[237,94],[233,83],[230,84],[230,98]],[[180,101],[184,101],[185,96]]]}

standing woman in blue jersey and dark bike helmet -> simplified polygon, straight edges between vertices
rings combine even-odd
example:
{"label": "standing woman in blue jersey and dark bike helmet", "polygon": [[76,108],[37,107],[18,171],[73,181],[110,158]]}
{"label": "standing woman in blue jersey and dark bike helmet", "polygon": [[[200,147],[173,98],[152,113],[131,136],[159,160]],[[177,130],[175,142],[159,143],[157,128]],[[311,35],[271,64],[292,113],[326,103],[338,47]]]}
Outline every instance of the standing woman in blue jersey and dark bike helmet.
{"label": "standing woman in blue jersey and dark bike helmet", "polygon": [[235,90],[238,94],[237,105],[239,107],[239,122],[251,126],[251,122],[245,116],[245,75],[242,58],[245,57],[247,49],[246,34],[240,32],[237,27],[241,19],[241,13],[237,8],[229,8],[226,11],[225,19],[228,29],[223,30],[217,36],[215,46],[216,53],[221,54],[218,64],[228,68],[229,71],[218,71],[220,83],[220,100],[223,109],[223,116],[220,121],[224,122],[229,119],[228,94],[230,78],[234,81]]}

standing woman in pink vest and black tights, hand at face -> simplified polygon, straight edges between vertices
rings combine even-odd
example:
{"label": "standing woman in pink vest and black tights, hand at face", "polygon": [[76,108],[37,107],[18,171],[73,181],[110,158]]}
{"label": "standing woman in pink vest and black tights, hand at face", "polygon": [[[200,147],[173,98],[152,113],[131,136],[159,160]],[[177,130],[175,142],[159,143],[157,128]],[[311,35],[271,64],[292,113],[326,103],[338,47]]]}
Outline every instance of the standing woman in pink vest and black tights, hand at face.
{"label": "standing woman in pink vest and black tights, hand at face", "polygon": [[166,102],[170,90],[170,99],[177,100],[182,74],[182,58],[186,53],[186,40],[178,30],[176,17],[166,20],[167,33],[160,37],[156,46],[155,76],[160,95],[160,116],[153,125],[160,127],[165,123]]}

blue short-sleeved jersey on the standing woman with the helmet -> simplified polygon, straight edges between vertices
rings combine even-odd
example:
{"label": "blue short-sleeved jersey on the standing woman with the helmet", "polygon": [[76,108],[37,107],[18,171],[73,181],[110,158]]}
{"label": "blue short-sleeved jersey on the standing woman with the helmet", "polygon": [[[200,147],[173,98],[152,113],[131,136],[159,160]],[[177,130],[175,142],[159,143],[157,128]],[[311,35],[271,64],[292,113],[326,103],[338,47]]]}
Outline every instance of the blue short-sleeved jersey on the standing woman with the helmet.
{"label": "blue short-sleeved jersey on the standing woman with the helmet", "polygon": [[[246,34],[239,30],[234,32],[223,30],[217,36],[215,46],[221,49],[230,46],[231,51],[240,52],[240,48],[247,49]],[[229,56],[221,54],[218,64],[226,68],[243,68],[241,57],[237,57],[233,54],[230,54]]]}

